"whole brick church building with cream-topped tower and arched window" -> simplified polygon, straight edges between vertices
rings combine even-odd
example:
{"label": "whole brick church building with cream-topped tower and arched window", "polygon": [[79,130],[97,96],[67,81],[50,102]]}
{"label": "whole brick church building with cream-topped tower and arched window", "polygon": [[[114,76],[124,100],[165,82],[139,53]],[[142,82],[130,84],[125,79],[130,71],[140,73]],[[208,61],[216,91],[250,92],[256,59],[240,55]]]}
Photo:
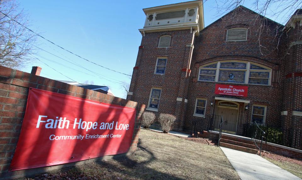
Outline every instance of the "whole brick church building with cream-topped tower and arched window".
{"label": "whole brick church building with cream-topped tower and arched window", "polygon": [[230,134],[253,121],[301,132],[302,10],[282,25],[239,6],[207,27],[203,1],[143,11],[127,99],[175,115],[178,131],[223,117]]}

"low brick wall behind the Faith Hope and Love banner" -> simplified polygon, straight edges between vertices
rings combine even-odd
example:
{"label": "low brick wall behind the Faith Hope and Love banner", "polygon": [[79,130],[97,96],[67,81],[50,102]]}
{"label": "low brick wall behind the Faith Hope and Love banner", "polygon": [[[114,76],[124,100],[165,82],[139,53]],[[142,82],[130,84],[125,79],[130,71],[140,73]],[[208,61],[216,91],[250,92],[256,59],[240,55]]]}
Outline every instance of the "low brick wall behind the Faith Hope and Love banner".
{"label": "low brick wall behind the Faith Hope and Love banner", "polygon": [[135,129],[128,153],[133,153],[136,150],[141,115],[145,109],[144,104],[0,66],[0,178],[30,175],[51,170],[35,168],[34,170],[8,172],[20,135],[29,87],[135,108],[137,110]]}

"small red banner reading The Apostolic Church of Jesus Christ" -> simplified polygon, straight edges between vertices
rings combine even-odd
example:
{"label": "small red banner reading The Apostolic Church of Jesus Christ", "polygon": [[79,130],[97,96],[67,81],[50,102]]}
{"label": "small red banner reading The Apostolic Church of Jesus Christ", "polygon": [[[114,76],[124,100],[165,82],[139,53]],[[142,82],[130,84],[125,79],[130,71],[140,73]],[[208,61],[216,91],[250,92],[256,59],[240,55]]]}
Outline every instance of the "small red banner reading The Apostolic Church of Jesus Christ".
{"label": "small red banner reading The Apostolic Church of Jesus Christ", "polygon": [[233,86],[233,85],[216,84],[215,94],[247,97],[248,96],[248,87],[247,86]]}

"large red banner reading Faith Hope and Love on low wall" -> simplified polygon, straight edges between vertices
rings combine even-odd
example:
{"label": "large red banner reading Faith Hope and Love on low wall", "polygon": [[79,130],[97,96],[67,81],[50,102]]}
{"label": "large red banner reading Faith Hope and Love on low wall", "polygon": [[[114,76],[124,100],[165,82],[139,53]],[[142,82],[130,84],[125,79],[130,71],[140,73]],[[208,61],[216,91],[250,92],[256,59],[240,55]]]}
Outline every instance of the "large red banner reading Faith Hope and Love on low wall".
{"label": "large red banner reading Faith Hope and Love on low wall", "polygon": [[30,88],[10,171],[129,150],[136,110]]}

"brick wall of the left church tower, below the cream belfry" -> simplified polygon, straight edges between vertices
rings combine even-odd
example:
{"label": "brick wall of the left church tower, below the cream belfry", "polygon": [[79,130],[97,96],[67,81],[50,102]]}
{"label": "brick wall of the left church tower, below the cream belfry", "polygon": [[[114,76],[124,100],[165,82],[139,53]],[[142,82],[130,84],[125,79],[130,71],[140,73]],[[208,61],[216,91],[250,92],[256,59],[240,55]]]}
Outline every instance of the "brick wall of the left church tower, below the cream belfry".
{"label": "brick wall of the left church tower, below the cream belfry", "polygon": [[[170,35],[168,48],[159,48],[159,38]],[[176,115],[175,127],[183,126],[184,94],[186,93],[188,74],[182,71],[189,68],[194,34],[187,30],[145,33],[138,51],[136,65],[132,73],[130,92],[127,99],[148,105],[152,87],[161,88],[158,112],[152,111],[159,117],[160,113]],[[154,74],[157,57],[167,57],[165,75]],[[176,101],[176,98],[183,101]],[[146,109],[148,110],[148,109]]]}

